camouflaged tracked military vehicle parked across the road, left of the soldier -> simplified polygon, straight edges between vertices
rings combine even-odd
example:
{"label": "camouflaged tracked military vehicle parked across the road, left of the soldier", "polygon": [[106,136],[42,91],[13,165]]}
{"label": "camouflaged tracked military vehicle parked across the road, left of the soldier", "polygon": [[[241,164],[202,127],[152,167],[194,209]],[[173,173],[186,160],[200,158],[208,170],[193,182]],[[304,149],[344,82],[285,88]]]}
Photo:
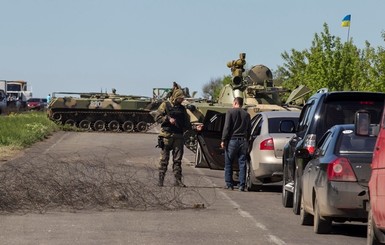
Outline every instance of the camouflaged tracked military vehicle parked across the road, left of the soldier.
{"label": "camouflaged tracked military vehicle parked across the road, left of the soldier", "polygon": [[54,92],[48,117],[85,130],[144,132],[153,124],[152,99],[112,93]]}

